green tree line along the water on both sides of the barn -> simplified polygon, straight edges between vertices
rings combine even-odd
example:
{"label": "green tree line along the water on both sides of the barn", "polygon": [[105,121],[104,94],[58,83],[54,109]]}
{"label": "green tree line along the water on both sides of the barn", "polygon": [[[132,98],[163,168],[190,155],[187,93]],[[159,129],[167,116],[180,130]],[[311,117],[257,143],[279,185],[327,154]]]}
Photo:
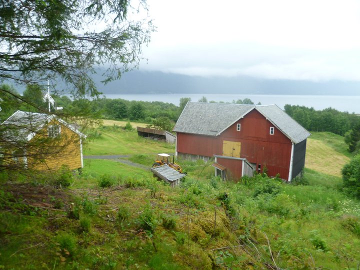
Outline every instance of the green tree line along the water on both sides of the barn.
{"label": "green tree line along the water on both sides of the barn", "polygon": [[[43,101],[43,93],[46,89],[37,84],[28,84],[22,94],[26,102],[22,102],[17,91],[9,85],[2,84],[1,88],[7,89],[0,101],[0,118],[4,120],[17,109],[26,111],[36,111],[47,108]],[[161,101],[136,101],[125,100],[121,98],[98,97],[91,100],[79,98],[71,100],[66,95],[52,95],[55,100],[55,106],[62,107],[62,113],[70,115],[90,115],[93,118],[142,121],[153,125],[153,127],[172,129],[177,121],[181,111],[188,101],[189,97],[182,97],[179,100],[179,106],[172,103]],[[205,96],[202,96],[198,102],[208,102]],[[215,102],[215,101],[209,101]],[[220,103],[224,103],[221,102]],[[253,104],[252,100],[237,99],[231,103]],[[258,103],[259,104],[259,103]],[[52,107],[52,110],[54,108]],[[313,107],[300,105],[284,106],[285,112],[294,120],[300,123],[309,131],[329,131],[345,137],[350,152],[360,149],[360,116],[355,113],[341,112],[334,108],[325,108],[315,110]]]}

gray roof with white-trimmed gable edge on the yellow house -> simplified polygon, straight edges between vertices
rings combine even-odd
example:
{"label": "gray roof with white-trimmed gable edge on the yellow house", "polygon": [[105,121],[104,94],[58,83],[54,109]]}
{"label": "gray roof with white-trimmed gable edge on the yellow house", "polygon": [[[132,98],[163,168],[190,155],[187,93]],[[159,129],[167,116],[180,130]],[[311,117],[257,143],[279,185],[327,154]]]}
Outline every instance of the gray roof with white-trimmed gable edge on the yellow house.
{"label": "gray roof with white-trimmed gable edge on the yellow house", "polygon": [[56,115],[47,113],[17,110],[5,121],[3,121],[1,125],[8,126],[8,129],[5,130],[8,131],[8,137],[11,137],[14,140],[28,141],[36,134],[36,131],[39,131],[42,127],[45,126],[45,124],[54,118],[71,129],[73,132],[77,133],[79,136],[86,137],[86,135],[81,133],[79,130],[64,120],[56,117]]}

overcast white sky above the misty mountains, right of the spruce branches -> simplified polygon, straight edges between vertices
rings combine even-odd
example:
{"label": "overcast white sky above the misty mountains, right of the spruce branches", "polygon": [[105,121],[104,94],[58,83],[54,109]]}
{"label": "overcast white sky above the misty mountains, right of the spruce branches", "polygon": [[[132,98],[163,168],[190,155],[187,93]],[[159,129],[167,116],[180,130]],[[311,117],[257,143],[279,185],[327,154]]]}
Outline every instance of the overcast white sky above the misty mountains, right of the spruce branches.
{"label": "overcast white sky above the misty mountains, right of the spruce branches", "polygon": [[147,0],[140,70],[360,80],[358,0]]}

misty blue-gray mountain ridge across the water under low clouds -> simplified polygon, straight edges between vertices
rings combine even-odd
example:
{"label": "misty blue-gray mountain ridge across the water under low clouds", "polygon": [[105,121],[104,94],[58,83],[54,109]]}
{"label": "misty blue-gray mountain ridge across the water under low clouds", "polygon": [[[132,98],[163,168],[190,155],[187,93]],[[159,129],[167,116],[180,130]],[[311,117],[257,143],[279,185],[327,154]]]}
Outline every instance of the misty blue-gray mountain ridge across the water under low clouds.
{"label": "misty blue-gray mountain ridge across the water under low clouds", "polygon": [[[101,72],[99,72],[101,73]],[[189,76],[161,71],[129,71],[118,80],[103,85],[100,75],[93,79],[104,94],[115,93],[226,93],[226,94],[302,94],[359,95],[358,81],[306,81],[265,79],[250,76]]]}

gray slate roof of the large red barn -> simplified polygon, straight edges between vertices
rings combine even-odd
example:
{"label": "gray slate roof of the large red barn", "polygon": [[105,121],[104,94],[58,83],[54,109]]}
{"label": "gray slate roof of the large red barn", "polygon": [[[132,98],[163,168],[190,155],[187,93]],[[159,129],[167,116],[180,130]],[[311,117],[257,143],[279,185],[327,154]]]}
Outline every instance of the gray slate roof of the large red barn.
{"label": "gray slate roof of the large red barn", "polygon": [[310,135],[305,128],[273,104],[188,102],[173,131],[217,136],[252,109],[259,111],[294,143],[298,143]]}

